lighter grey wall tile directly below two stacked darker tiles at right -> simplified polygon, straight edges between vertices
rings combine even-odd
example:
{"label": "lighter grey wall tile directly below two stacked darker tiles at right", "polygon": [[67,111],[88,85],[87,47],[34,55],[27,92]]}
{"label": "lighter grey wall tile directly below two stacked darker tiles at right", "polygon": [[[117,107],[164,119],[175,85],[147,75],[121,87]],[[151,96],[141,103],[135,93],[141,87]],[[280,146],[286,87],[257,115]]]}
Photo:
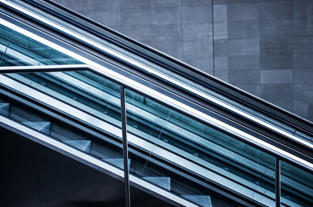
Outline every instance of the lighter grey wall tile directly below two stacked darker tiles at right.
{"label": "lighter grey wall tile directly below two stacked darker tiles at right", "polygon": [[261,84],[289,84],[292,83],[292,69],[260,70]]}

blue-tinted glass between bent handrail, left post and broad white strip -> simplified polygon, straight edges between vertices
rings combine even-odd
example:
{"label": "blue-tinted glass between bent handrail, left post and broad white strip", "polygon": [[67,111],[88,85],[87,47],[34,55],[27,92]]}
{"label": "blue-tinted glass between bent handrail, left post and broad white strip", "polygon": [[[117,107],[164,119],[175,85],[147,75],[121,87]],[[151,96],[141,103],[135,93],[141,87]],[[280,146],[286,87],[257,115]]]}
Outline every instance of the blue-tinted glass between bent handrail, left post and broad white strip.
{"label": "blue-tinted glass between bent handrail, left post and broad white strip", "polygon": [[[89,71],[11,73],[8,76],[120,126],[119,86]],[[100,113],[99,113],[100,112]]]}

